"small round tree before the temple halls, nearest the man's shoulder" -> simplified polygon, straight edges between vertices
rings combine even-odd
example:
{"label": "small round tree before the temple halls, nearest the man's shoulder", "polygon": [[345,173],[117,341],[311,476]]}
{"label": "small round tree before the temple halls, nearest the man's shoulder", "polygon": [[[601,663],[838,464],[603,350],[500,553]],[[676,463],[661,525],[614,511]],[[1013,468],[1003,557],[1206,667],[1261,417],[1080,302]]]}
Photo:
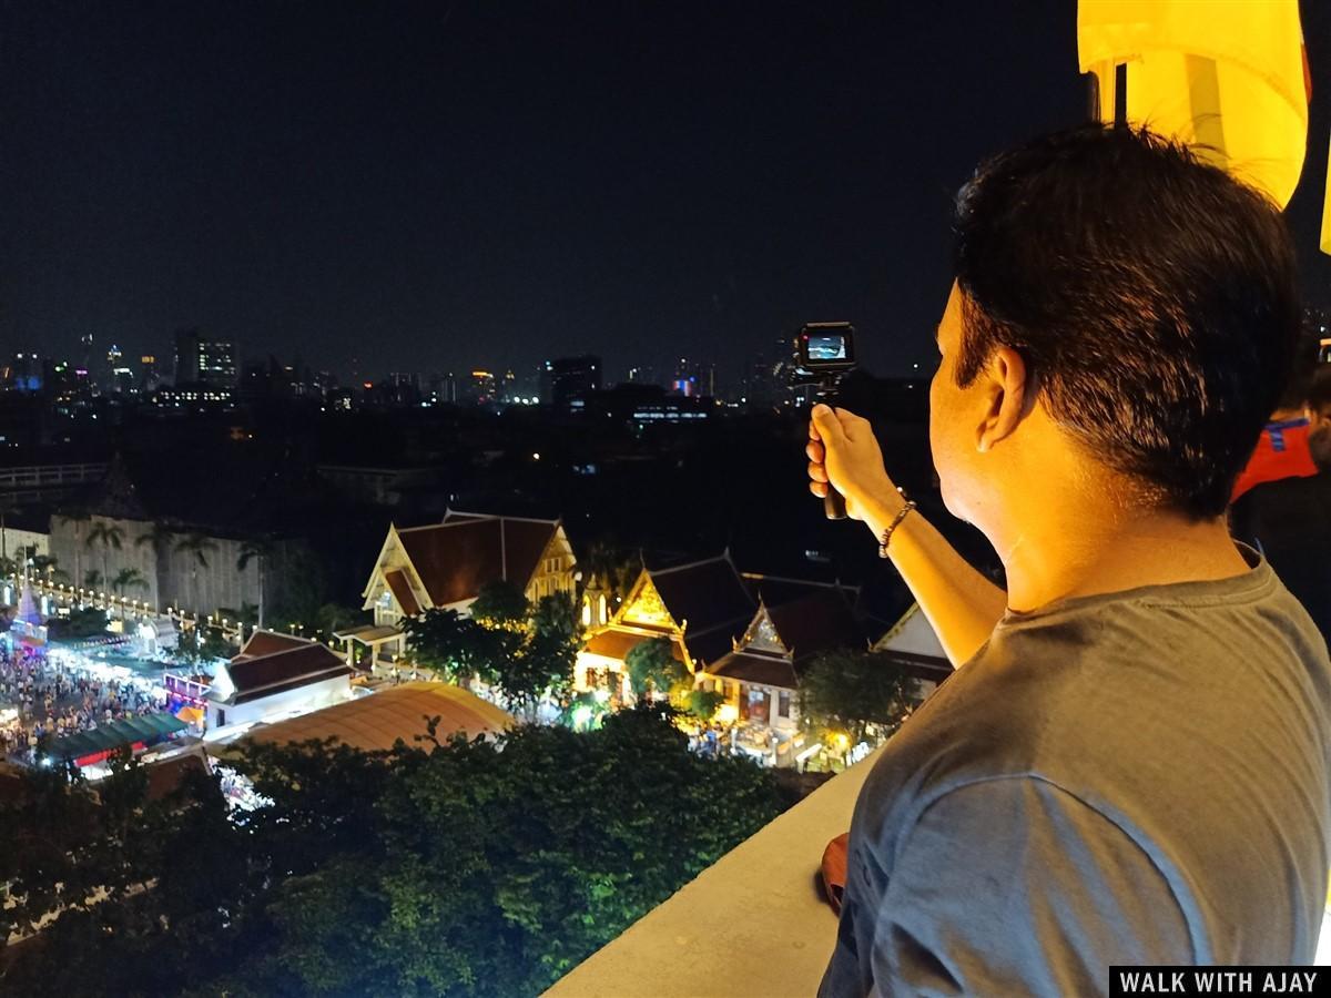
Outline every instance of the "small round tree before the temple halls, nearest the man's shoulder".
{"label": "small round tree before the temple halls, nearest the man's shoulder", "polygon": [[827,652],[800,677],[800,723],[820,735],[845,732],[852,745],[869,725],[881,737],[894,732],[916,700],[914,680],[873,652]]}

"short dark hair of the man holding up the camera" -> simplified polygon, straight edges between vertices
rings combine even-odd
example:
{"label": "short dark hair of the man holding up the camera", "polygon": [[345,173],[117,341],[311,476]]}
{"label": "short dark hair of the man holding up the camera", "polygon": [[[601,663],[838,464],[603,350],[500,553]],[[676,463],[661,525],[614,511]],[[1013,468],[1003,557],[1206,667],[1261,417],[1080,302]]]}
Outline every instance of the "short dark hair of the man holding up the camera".
{"label": "short dark hair of the man holding up the camera", "polygon": [[1299,333],[1275,205],[1150,132],[1083,125],[962,188],[957,382],[1016,350],[1053,418],[1145,502],[1225,511]]}

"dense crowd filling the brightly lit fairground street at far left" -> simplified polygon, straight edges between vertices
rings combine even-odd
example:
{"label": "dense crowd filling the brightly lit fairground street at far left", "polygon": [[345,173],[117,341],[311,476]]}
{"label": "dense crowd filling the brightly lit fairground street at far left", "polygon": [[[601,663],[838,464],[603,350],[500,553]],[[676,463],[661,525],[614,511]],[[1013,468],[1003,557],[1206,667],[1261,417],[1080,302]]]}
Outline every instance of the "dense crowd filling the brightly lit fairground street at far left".
{"label": "dense crowd filling the brightly lit fairground street at far left", "polygon": [[152,713],[164,696],[146,680],[106,677],[75,659],[0,644],[0,704],[9,708],[0,723],[0,753],[32,753],[45,736]]}

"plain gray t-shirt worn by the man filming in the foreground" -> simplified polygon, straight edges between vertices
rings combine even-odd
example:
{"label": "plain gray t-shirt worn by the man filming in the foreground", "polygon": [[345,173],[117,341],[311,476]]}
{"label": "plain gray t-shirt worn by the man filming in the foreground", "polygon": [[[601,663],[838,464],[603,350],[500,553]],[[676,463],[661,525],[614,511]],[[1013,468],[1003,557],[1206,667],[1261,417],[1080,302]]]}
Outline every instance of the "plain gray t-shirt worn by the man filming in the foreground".
{"label": "plain gray t-shirt worn by the man filming in the foreground", "polygon": [[882,752],[820,994],[1101,994],[1111,963],[1311,963],[1331,664],[1247,574],[1008,613]]}

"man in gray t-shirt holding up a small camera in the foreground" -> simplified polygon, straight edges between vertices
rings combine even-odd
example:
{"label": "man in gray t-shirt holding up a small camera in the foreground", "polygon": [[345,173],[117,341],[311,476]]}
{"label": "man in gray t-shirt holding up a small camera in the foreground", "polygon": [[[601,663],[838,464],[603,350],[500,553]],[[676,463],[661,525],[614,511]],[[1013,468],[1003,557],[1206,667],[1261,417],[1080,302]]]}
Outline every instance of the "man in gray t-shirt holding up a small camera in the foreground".
{"label": "man in gray t-shirt holding up a small camera in the foreground", "polygon": [[982,165],[956,228],[930,442],[1008,591],[906,506],[865,420],[815,409],[812,491],[845,496],[960,669],[861,792],[821,993],[1310,962],[1331,664],[1223,518],[1299,325],[1279,214],[1097,125]]}

